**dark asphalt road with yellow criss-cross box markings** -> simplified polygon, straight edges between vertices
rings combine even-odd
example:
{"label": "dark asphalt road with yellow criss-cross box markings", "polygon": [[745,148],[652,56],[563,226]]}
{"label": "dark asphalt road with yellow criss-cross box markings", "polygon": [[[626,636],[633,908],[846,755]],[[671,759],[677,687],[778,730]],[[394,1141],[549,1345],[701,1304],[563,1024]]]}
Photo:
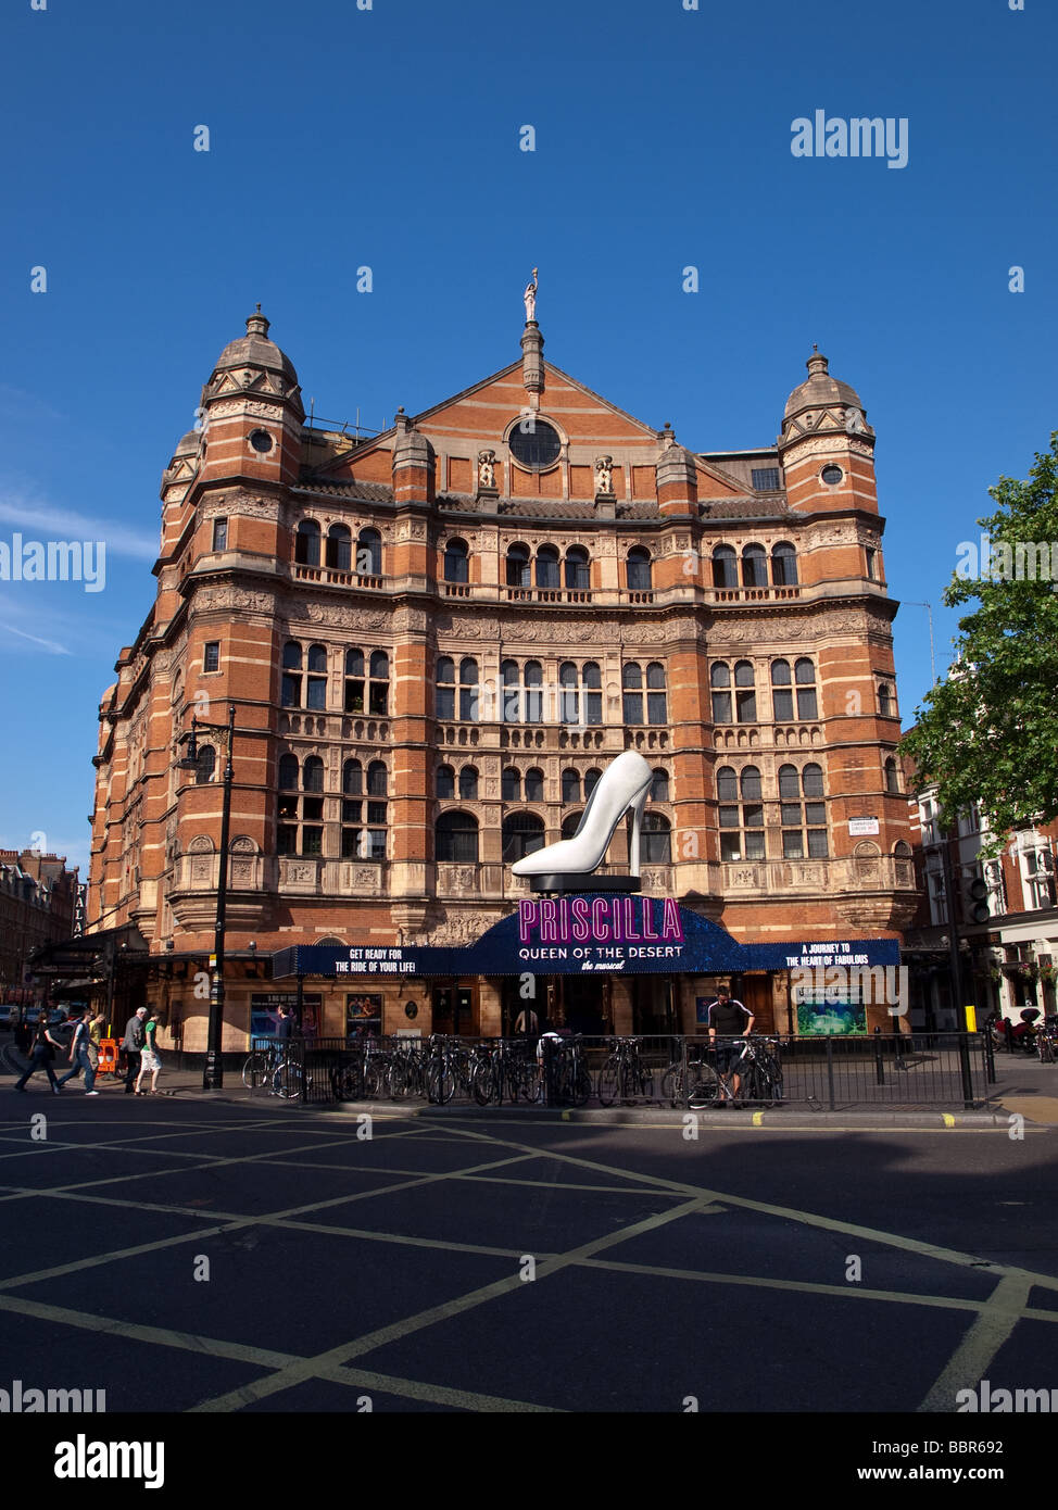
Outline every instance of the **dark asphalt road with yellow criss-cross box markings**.
{"label": "dark asphalt road with yellow criss-cross box markings", "polygon": [[952,1412],[983,1377],[1058,1388],[1050,1128],[376,1114],[367,1139],[347,1111],[9,1087],[5,1373],[109,1412]]}

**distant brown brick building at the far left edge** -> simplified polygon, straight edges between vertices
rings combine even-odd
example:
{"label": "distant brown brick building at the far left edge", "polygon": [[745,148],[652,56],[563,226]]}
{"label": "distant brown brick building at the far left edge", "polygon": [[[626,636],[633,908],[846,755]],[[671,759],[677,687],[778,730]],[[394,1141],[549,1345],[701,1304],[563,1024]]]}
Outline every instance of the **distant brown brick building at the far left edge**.
{"label": "distant brown brick building at the far left edge", "polygon": [[65,856],[0,850],[0,1001],[27,1003],[39,992],[29,957],[71,938],[80,898],[77,870]]}

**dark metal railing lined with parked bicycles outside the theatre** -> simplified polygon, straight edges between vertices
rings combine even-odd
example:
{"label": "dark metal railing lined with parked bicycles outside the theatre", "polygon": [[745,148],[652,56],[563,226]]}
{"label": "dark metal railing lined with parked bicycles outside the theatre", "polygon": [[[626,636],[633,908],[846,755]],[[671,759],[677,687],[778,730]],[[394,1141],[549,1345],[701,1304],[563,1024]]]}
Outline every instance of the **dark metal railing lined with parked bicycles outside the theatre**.
{"label": "dark metal railing lined with parked bicycles outside the theatre", "polygon": [[986,1107],[984,1033],[255,1037],[246,1089],[302,1105]]}

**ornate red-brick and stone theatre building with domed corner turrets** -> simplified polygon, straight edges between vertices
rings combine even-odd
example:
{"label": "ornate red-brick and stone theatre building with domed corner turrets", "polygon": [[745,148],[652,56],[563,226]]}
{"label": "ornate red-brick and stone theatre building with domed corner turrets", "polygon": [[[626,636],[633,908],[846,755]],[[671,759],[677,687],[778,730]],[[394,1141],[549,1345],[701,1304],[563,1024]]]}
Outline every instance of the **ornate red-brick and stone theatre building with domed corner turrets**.
{"label": "ornate red-brick and stone theatre building with domed corner turrets", "polygon": [[[546,362],[534,319],[521,347],[371,438],[305,423],[261,314],[202,391],[101,704],[89,889],[184,1049],[225,735],[195,770],[181,735],[229,705],[225,1049],[282,995],[326,1034],[498,1033],[527,1000],[649,1033],[724,982],[788,1030],[791,965],[897,957],[897,604],[859,397],[812,355],[774,445],[699,453]],[[625,749],[654,773],[641,895],[548,912],[510,865]],[[602,874],[626,865],[622,821]]]}

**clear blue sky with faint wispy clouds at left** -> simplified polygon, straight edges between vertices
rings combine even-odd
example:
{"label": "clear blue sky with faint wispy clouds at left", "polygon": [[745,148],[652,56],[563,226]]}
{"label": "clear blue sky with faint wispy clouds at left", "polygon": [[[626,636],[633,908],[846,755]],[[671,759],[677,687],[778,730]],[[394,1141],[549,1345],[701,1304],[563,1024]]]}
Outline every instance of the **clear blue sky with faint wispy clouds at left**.
{"label": "clear blue sky with faint wispy clouds at left", "polygon": [[[519,356],[534,264],[545,355],[696,450],[773,442],[818,341],[943,670],[957,545],[1058,424],[1056,42],[1044,0],[9,0],[0,541],[103,539],[107,577],[0,581],[0,846],[86,865],[158,479],[257,300],[306,406],[376,427]],[[817,109],[906,118],[907,166],[795,159]],[[907,723],[924,609],[897,670]]]}

